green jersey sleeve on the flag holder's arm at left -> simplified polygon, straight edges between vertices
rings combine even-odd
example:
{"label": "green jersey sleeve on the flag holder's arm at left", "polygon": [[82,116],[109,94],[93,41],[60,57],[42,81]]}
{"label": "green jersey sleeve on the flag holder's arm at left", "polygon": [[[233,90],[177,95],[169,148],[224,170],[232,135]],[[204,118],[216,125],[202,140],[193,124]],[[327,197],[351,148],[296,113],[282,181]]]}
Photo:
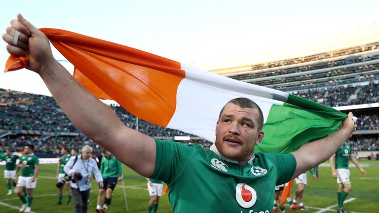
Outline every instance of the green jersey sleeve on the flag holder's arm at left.
{"label": "green jersey sleeve on the flag holder's arm at left", "polygon": [[151,177],[171,183],[180,176],[191,156],[198,150],[180,142],[155,140],[155,169]]}

